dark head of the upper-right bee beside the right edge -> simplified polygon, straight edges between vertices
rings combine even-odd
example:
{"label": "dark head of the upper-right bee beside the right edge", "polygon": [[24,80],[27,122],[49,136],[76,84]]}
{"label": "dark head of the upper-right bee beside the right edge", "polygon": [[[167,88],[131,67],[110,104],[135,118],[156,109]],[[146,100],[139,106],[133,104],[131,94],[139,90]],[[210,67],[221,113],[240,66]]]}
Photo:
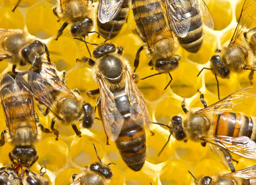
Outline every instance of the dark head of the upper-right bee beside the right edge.
{"label": "dark head of the upper-right bee beside the right edge", "polygon": [[212,70],[221,78],[229,78],[230,71],[223,65],[219,55],[214,55],[210,59]]}

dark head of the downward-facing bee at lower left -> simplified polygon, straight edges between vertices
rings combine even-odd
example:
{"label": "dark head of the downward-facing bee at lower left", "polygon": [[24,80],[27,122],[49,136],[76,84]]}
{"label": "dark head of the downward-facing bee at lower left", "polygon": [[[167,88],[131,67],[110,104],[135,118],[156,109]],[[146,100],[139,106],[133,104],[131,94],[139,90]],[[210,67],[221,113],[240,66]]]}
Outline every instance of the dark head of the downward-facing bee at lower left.
{"label": "dark head of the downward-facing bee at lower left", "polygon": [[15,147],[12,152],[9,153],[11,159],[16,160],[20,165],[27,165],[34,163],[38,159],[38,155],[35,148],[20,148]]}

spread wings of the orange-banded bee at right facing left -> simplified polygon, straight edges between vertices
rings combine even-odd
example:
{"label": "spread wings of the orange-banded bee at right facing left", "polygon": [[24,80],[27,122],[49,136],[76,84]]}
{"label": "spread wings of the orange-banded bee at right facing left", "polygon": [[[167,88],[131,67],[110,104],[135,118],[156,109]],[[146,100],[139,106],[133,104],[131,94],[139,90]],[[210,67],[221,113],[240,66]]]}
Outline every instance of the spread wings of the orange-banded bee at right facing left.
{"label": "spread wings of the orange-banded bee at right facing left", "polygon": [[[246,87],[240,89],[220,101],[209,105],[208,107],[198,110],[198,113],[221,114],[226,111],[234,110],[234,107],[243,104],[247,98],[256,97],[256,89],[253,87]],[[221,157],[227,164],[221,148],[227,151],[240,155],[242,157],[256,159],[256,143],[247,136],[242,137],[228,137],[228,136],[213,136],[203,138],[210,147]],[[228,164],[227,164],[228,165]]]}

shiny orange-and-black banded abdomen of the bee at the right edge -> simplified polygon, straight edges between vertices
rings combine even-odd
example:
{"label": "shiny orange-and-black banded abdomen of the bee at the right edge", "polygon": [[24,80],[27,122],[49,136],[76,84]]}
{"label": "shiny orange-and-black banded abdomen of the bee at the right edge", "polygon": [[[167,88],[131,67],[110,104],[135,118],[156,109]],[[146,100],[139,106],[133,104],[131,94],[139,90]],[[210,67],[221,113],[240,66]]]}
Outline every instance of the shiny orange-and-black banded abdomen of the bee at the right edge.
{"label": "shiny orange-and-black banded abdomen of the bee at the right edge", "polygon": [[223,112],[216,115],[214,122],[214,135],[241,137],[247,136],[256,141],[255,118],[242,113]]}

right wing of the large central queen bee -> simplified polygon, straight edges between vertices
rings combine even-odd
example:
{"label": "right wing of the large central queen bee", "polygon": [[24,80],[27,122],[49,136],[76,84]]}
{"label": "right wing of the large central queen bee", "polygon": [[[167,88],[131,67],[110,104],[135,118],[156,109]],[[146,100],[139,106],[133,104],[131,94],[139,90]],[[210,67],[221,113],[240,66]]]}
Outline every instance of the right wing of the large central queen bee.
{"label": "right wing of the large central queen bee", "polygon": [[141,127],[147,125],[147,127],[150,129],[152,124],[148,123],[148,121],[152,121],[151,113],[140,90],[135,85],[127,67],[125,68],[125,77],[125,92],[130,101],[131,118]]}

